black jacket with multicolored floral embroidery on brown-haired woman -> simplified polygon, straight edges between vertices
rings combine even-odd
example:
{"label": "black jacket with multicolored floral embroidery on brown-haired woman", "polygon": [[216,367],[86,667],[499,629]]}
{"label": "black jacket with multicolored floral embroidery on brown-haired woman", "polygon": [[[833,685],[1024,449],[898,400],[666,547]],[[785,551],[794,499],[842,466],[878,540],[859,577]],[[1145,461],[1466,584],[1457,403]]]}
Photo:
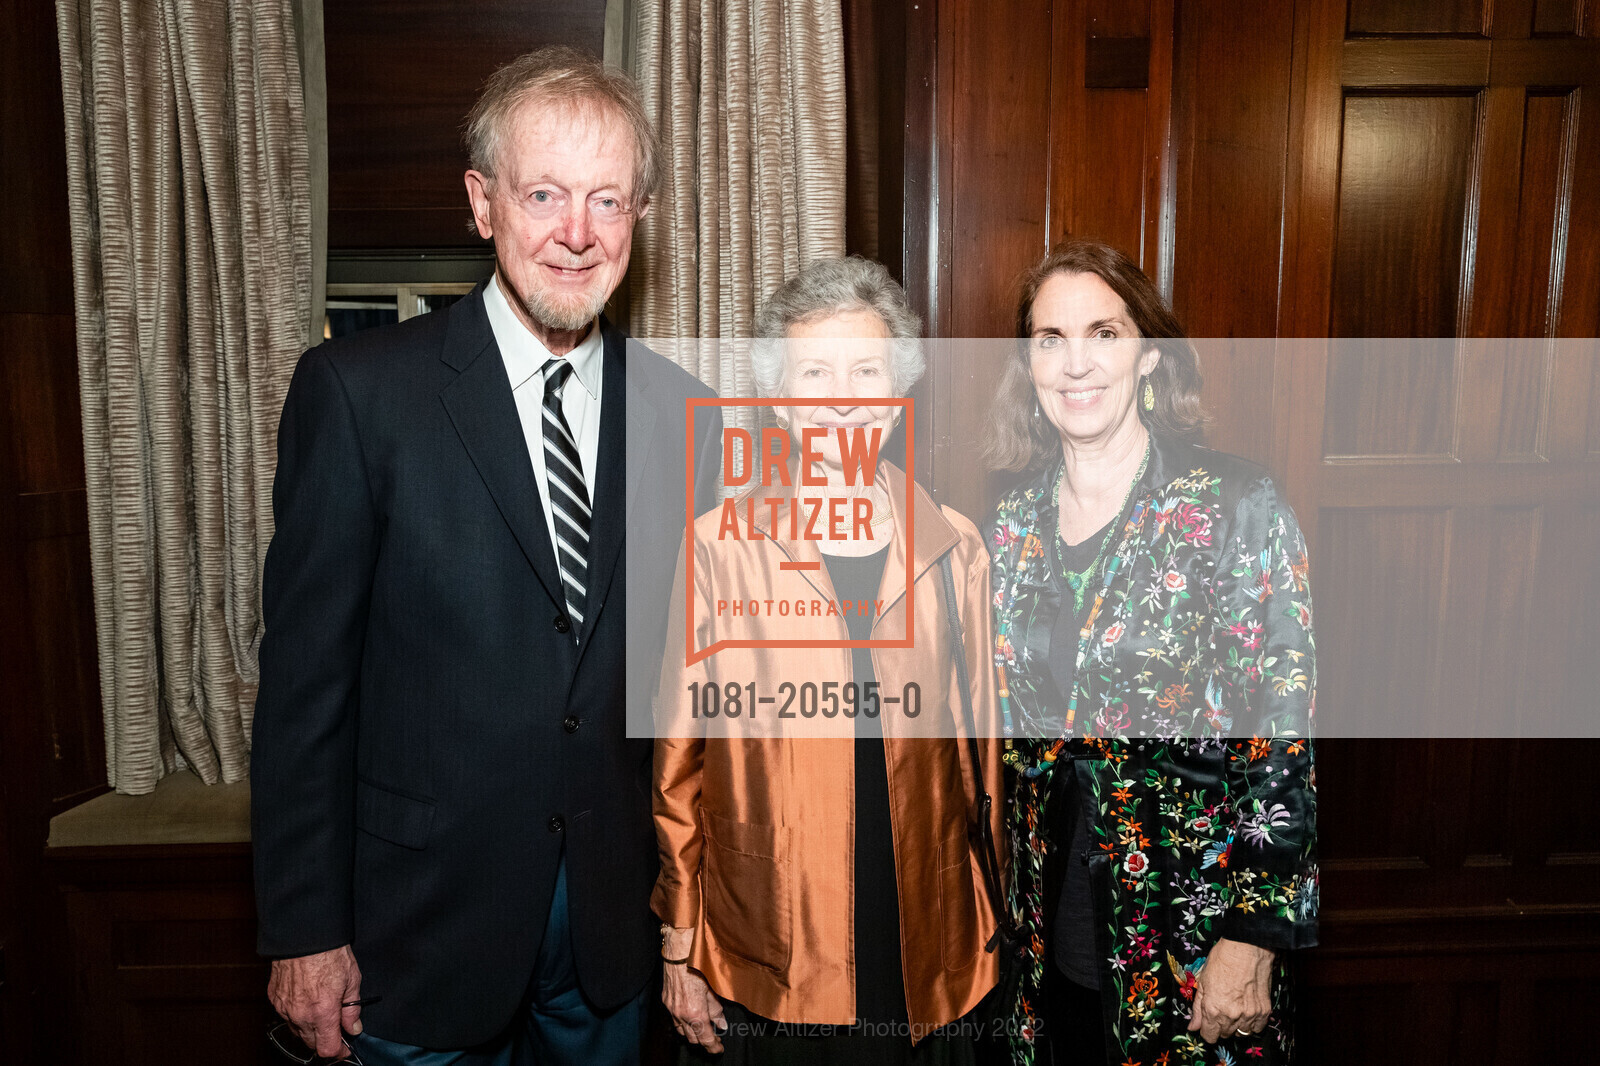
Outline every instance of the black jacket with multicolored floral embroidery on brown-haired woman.
{"label": "black jacket with multicolored floral embroidery on brown-haired woman", "polygon": [[1034,1005],[1051,951],[1040,826],[1054,763],[1045,752],[1075,695],[1070,751],[1090,783],[1112,1063],[1288,1061],[1282,954],[1264,1032],[1206,1045],[1187,1024],[1219,938],[1280,952],[1315,943],[1315,643],[1299,527],[1245,461],[1157,440],[1134,493],[1149,514],[1117,544],[1118,570],[1074,693],[1061,693],[1048,664],[1062,603],[1046,539],[1056,530],[1046,487],[1058,472],[1002,499],[987,527],[1005,707],[1016,736],[1046,738],[1014,741],[1010,757],[1013,906],[1034,949],[1014,1058],[1034,1060]]}

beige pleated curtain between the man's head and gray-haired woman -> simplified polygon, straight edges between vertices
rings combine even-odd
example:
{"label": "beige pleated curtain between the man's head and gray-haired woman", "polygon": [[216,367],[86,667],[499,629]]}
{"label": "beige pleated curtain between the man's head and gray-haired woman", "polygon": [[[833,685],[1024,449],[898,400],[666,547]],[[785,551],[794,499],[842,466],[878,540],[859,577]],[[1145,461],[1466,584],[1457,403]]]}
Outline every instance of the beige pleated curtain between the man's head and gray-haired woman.
{"label": "beige pleated curtain between the man's head and gray-haired woman", "polygon": [[[640,0],[630,34],[666,160],[635,235],[630,330],[749,336],[779,283],[845,250],[838,0]],[[670,351],[723,395],[754,395],[744,349]]]}

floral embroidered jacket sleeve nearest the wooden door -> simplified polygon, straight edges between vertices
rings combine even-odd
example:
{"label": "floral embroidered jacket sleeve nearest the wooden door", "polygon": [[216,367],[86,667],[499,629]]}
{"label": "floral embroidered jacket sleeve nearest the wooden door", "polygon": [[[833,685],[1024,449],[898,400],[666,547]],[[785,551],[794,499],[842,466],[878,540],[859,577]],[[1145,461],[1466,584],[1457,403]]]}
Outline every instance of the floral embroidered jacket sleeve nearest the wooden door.
{"label": "floral embroidered jacket sleeve nearest the wooden door", "polygon": [[[1216,602],[1221,683],[1245,714],[1227,743],[1238,797],[1221,935],[1275,951],[1317,943],[1317,791],[1306,541],[1270,479],[1238,503],[1222,546]],[[1248,707],[1248,709],[1246,709]]]}

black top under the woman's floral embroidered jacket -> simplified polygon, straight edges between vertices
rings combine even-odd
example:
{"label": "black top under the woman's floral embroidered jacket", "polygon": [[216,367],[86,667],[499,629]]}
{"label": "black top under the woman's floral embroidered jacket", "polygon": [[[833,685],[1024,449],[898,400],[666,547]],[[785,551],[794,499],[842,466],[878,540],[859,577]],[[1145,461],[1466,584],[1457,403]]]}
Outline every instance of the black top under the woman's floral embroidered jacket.
{"label": "black top under the woman's floral embroidered jacket", "polygon": [[[1062,544],[1061,536],[1056,541],[1056,560],[1061,567],[1061,573],[1067,570],[1083,570],[1094,562],[1099,554],[1101,543],[1106,539],[1110,528],[1122,522],[1122,515],[1117,515],[1104,527],[1096,530],[1082,544]],[[1056,626],[1050,632],[1050,674],[1056,680],[1056,690],[1061,691],[1062,699],[1072,698],[1072,675],[1077,671],[1078,663],[1078,632],[1083,629],[1083,623],[1090,616],[1090,610],[1094,607],[1094,597],[1099,594],[1101,583],[1104,581],[1104,567],[1109,560],[1115,544],[1109,544],[1106,549],[1106,559],[1101,560],[1101,567],[1096,573],[1088,575],[1086,587],[1083,591],[1083,607],[1074,611],[1072,589],[1062,581],[1061,591],[1061,611],[1056,615]],[[1064,707],[1062,707],[1064,711]],[[1059,775],[1061,779],[1053,783],[1051,804],[1066,804],[1064,815],[1061,821],[1066,831],[1070,826],[1070,840],[1067,845],[1067,861],[1062,868],[1061,877],[1061,901],[1056,908],[1056,932],[1051,936],[1054,941],[1051,944],[1056,959],[1056,967],[1061,968],[1072,981],[1083,984],[1085,988],[1098,988],[1099,978],[1096,976],[1099,968],[1094,964],[1094,900],[1090,895],[1090,831],[1088,823],[1083,818],[1083,795],[1078,791],[1077,779],[1077,763],[1064,763],[1064,770],[1069,773]]]}

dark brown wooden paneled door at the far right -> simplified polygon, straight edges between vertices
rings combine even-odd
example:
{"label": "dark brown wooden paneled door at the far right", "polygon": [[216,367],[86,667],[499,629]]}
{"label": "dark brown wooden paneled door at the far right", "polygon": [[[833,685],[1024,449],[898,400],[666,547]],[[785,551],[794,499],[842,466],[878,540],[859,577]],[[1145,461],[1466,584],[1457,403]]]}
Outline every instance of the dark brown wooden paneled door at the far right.
{"label": "dark brown wooden paneled door at the far right", "polygon": [[[1450,738],[1502,709],[1600,703],[1600,359],[1592,341],[1493,341],[1600,335],[1600,11],[1584,8],[1296,10],[1278,323],[1336,339],[1280,349],[1278,456],[1314,536],[1330,717],[1386,709]],[[1318,1061],[1587,1045],[1565,1012],[1600,994],[1595,755],[1322,746]],[[1382,1023],[1384,1050],[1349,1042],[1352,1016]]]}

